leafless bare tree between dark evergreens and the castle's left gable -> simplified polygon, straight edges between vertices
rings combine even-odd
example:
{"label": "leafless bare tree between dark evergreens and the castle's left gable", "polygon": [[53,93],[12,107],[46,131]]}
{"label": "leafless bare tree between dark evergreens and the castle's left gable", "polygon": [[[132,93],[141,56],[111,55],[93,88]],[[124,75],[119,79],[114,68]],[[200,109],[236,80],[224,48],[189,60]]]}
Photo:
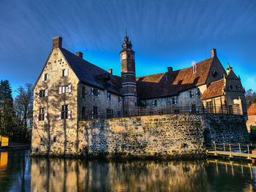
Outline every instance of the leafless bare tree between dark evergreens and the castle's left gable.
{"label": "leafless bare tree between dark evergreens and the castle's left gable", "polygon": [[24,87],[17,90],[18,96],[14,101],[15,112],[17,116],[18,131],[20,139],[30,141],[31,129],[33,124],[33,87],[27,83]]}

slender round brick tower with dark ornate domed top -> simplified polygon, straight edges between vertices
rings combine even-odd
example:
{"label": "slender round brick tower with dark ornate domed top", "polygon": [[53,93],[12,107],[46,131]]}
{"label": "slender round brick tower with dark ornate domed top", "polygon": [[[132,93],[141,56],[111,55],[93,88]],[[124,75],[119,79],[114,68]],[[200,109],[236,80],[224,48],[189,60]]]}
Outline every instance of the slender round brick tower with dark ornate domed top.
{"label": "slender round brick tower with dark ornate domed top", "polygon": [[124,94],[124,114],[135,110],[137,106],[136,79],[135,79],[135,52],[132,50],[132,42],[129,37],[124,37],[120,52],[121,82]]}

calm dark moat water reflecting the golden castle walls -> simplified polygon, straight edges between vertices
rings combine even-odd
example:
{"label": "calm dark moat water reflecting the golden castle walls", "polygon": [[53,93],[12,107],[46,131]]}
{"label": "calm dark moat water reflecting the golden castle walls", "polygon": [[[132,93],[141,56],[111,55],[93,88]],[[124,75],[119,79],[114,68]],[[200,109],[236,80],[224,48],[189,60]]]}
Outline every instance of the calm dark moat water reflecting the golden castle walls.
{"label": "calm dark moat water reflecting the golden castle walls", "polygon": [[256,191],[256,166],[225,161],[85,161],[1,153],[0,191]]}

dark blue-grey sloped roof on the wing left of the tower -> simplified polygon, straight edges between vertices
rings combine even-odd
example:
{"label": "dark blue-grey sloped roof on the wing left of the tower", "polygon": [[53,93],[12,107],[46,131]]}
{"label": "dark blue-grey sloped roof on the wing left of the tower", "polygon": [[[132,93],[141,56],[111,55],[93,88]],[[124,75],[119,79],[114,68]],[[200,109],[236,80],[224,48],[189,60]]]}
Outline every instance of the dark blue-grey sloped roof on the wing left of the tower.
{"label": "dark blue-grey sloped roof on the wing left of the tower", "polygon": [[88,61],[78,57],[73,53],[70,53],[64,48],[60,48],[60,50],[80,82],[94,86],[96,88],[105,89],[105,87],[103,87],[102,83],[100,83],[99,80],[109,79],[110,85],[108,85],[107,90],[112,93],[121,95],[120,91],[118,91],[117,88],[117,86],[120,84],[120,80],[117,76],[109,74],[104,69],[101,69],[99,66],[89,63]]}

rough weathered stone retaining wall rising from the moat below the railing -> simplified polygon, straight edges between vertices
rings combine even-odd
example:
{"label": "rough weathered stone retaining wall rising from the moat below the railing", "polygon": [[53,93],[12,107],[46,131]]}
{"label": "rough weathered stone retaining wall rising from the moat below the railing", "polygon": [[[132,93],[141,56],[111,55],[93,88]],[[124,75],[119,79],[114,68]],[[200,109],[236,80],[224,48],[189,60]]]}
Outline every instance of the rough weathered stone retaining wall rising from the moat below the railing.
{"label": "rough weathered stone retaining wall rising from the moat below the railing", "polygon": [[[80,121],[75,140],[72,155],[83,157],[202,158],[203,142],[246,143],[249,137],[240,115],[151,115]],[[67,155],[50,149],[50,155]]]}

